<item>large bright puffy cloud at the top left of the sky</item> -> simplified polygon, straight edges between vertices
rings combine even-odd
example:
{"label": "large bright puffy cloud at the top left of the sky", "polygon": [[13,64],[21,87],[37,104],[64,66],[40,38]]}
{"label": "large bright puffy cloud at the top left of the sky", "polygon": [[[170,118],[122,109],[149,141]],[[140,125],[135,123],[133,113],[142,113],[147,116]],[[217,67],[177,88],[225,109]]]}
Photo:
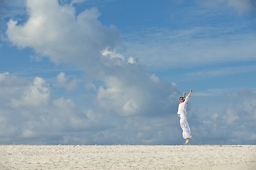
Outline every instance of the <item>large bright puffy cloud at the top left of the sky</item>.
{"label": "large bright puffy cloud at the top left of the sky", "polygon": [[75,14],[71,5],[60,6],[57,0],[27,1],[28,21],[11,19],[6,34],[18,47],[31,47],[53,62],[67,62],[92,67],[100,52],[114,47],[119,32],[114,26],[103,26],[97,8]]}

